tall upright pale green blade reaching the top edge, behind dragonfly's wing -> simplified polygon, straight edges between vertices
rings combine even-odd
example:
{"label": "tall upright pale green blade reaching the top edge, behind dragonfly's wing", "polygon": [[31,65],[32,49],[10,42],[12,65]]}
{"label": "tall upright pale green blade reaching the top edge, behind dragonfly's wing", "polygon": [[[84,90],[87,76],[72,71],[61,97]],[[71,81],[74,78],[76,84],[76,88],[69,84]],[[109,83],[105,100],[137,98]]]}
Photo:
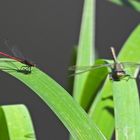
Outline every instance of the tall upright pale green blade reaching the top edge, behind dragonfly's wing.
{"label": "tall upright pale green blade reaching the top edge, behind dragonfly's wing", "polygon": [[[94,63],[95,25],[93,21],[95,23],[95,0],[85,0],[77,52],[77,66],[90,66]],[[80,104],[87,75],[88,73],[77,75],[74,80],[73,94]]]}

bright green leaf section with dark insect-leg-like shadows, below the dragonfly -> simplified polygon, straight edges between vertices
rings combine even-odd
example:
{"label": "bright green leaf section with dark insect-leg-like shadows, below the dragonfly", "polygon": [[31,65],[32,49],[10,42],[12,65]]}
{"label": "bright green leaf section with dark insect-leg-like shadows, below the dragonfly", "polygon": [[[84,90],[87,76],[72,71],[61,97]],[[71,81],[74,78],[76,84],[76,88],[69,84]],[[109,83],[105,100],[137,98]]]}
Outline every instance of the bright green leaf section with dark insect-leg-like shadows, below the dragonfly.
{"label": "bright green leaf section with dark insect-leg-like shadows, below the dragonfly", "polygon": [[89,116],[103,132],[105,137],[110,140],[115,124],[112,88],[108,78],[92,103]]}

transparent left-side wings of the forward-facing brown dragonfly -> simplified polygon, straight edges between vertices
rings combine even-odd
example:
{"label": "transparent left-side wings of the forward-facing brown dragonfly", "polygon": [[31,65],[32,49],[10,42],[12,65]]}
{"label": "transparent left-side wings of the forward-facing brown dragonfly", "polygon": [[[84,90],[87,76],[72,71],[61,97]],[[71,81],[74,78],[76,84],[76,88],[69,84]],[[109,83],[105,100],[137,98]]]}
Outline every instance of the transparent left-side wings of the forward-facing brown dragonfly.
{"label": "transparent left-side wings of the forward-facing brown dragonfly", "polygon": [[75,73],[71,74],[70,76],[82,74],[91,70],[95,70],[98,68],[103,68],[103,67],[112,67],[113,64],[101,64],[101,65],[94,65],[94,66],[72,66],[69,68],[69,70],[76,71]]}

